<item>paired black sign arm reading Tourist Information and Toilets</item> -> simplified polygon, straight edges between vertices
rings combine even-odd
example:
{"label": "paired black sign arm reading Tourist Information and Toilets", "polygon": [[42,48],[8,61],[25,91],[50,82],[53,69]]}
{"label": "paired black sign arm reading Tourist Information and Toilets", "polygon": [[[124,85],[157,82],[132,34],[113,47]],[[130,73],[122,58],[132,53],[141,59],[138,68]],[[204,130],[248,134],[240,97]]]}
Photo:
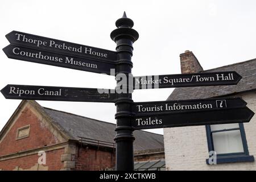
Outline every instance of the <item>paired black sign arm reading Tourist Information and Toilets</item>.
{"label": "paired black sign arm reading Tourist Information and Toilets", "polygon": [[241,98],[135,102],[135,130],[249,122],[254,113]]}

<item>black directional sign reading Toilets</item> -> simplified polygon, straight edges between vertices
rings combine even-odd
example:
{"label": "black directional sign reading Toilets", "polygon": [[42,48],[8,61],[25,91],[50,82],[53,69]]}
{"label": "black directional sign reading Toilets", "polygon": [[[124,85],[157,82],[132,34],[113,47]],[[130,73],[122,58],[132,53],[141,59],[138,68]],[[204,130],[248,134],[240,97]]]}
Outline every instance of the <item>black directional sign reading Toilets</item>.
{"label": "black directional sign reading Toilets", "polygon": [[166,113],[155,115],[135,115],[135,130],[158,129],[163,127],[181,127],[249,122],[254,113],[248,107],[231,109],[196,110],[185,113]]}

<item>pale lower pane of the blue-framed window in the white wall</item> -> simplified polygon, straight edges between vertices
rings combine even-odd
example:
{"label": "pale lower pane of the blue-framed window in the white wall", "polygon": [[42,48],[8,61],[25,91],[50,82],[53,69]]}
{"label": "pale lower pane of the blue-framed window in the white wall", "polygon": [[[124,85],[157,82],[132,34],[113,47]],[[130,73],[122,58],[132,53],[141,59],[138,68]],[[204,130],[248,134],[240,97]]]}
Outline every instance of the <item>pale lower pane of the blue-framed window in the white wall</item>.
{"label": "pale lower pane of the blue-framed window in the white wall", "polygon": [[240,130],[212,133],[212,138],[217,154],[243,152]]}

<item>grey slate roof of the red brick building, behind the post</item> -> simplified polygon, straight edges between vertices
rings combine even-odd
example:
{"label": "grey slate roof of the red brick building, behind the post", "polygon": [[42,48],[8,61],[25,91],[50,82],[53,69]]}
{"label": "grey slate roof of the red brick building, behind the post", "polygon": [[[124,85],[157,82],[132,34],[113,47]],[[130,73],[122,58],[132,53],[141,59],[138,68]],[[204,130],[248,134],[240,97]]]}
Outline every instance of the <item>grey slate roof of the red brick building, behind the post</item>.
{"label": "grey slate roof of the red brick building, behind the post", "polygon": [[[75,140],[82,137],[114,143],[115,124],[113,123],[46,107],[43,107],[43,109],[51,118],[51,121],[58,126],[59,130],[67,133]],[[133,134],[135,137],[134,151],[164,148],[163,135],[141,130],[135,130]]]}

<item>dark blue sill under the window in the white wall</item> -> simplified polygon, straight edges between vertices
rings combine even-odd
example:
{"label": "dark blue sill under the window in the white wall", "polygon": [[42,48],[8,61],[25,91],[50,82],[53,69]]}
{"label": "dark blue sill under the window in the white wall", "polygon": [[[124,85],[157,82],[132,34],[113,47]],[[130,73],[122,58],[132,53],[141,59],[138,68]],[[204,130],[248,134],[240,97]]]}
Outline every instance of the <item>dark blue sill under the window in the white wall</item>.
{"label": "dark blue sill under the window in the white wall", "polygon": [[[253,155],[217,156],[217,164],[237,163],[237,162],[254,162],[254,156]],[[206,159],[206,163],[209,164],[209,159]]]}

